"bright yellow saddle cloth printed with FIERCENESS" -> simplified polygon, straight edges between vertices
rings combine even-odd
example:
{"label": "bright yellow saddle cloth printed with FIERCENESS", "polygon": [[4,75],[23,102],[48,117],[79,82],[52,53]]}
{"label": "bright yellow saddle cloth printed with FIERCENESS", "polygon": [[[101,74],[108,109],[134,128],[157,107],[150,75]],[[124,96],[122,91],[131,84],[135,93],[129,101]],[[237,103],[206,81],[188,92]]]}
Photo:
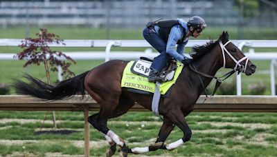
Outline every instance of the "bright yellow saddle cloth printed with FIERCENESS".
{"label": "bright yellow saddle cloth printed with FIERCENESS", "polygon": [[[127,66],[125,67],[123,72],[121,87],[128,87],[136,90],[142,90],[142,91],[154,93],[156,89],[156,84],[148,82],[147,77],[132,73],[131,67],[133,63],[134,61],[130,61],[129,63],[127,63]],[[161,83],[160,85],[161,94],[166,94],[166,92],[168,92],[170,87],[176,82],[183,67],[184,65],[182,63],[177,62],[177,69],[175,71],[173,79],[171,81]]]}

